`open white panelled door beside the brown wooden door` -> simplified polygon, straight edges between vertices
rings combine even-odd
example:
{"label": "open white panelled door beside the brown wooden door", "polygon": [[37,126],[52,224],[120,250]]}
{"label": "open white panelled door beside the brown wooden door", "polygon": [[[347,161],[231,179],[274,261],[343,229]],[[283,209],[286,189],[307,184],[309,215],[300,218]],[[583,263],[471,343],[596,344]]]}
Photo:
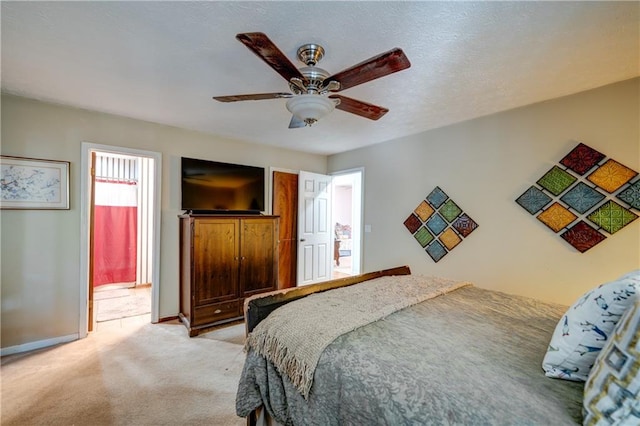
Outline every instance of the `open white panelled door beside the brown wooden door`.
{"label": "open white panelled door beside the brown wooden door", "polygon": [[298,175],[298,286],[331,279],[332,229],[331,176],[301,171]]}

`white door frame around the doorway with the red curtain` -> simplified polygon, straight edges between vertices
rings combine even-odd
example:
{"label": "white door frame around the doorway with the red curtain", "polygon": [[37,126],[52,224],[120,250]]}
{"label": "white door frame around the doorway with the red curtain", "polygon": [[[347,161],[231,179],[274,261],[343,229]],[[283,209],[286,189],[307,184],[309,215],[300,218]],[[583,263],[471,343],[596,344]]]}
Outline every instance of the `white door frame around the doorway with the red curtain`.
{"label": "white door frame around the doorway with the red curtain", "polygon": [[101,145],[82,142],[80,160],[80,315],[78,323],[79,338],[87,337],[89,331],[89,235],[91,209],[91,153],[94,151],[112,152],[136,157],[148,157],[154,160],[154,200],[153,200],[153,247],[151,280],[151,322],[158,322],[160,302],[160,224],[162,194],[162,153],[141,149]]}

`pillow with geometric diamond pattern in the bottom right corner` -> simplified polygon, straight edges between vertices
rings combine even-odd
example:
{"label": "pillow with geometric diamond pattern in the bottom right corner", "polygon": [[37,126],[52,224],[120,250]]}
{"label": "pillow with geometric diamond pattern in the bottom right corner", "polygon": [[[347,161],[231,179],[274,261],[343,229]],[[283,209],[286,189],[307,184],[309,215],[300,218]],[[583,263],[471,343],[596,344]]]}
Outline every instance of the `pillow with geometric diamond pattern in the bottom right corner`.
{"label": "pillow with geometric diamond pattern in the bottom right corner", "polygon": [[585,425],[640,424],[640,301],[596,358],[584,387]]}

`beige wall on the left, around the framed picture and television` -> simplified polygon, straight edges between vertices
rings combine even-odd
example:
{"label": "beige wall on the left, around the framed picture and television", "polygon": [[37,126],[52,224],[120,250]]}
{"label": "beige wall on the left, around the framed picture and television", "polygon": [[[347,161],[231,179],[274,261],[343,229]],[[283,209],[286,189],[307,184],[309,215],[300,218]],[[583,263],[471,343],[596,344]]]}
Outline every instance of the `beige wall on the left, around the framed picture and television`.
{"label": "beige wall on the left, around the framed picture and television", "polygon": [[160,318],[178,313],[179,158],[326,172],[326,157],[2,96],[2,154],[71,162],[71,209],[2,210],[2,348],[78,334],[81,144],[162,153]]}

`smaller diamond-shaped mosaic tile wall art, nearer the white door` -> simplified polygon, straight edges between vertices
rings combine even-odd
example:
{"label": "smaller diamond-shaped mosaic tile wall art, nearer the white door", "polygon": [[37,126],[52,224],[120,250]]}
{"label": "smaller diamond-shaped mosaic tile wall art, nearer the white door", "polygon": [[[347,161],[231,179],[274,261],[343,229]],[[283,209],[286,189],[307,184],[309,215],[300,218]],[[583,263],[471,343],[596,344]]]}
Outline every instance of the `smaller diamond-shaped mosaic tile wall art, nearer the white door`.
{"label": "smaller diamond-shaped mosaic tile wall art, nearer the white door", "polygon": [[478,224],[436,186],[411,212],[404,226],[433,261],[438,262],[467,238]]}

